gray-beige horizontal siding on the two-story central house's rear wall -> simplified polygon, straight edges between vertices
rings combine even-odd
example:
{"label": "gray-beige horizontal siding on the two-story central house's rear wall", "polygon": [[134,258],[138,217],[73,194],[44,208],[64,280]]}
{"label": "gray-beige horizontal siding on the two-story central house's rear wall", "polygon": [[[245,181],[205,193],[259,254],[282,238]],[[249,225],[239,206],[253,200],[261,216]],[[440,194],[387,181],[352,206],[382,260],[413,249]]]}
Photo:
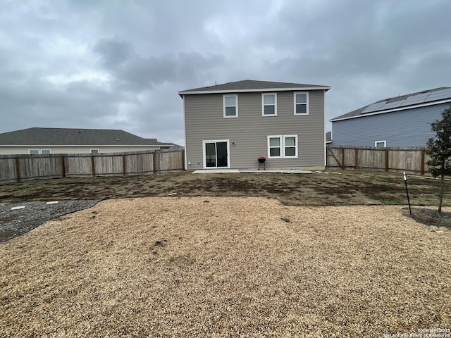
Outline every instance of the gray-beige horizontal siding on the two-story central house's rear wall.
{"label": "gray-beige horizontal siding on the two-story central house's rear wall", "polygon": [[[261,93],[238,93],[238,117],[223,118],[222,94],[184,96],[188,170],[203,168],[202,141],[228,139],[230,168],[257,168],[268,136],[297,135],[297,158],[268,158],[266,169],[324,167],[324,92],[309,92],[309,115],[294,115],[293,92],[277,93],[277,116],[261,115]],[[235,145],[233,145],[233,142]]]}

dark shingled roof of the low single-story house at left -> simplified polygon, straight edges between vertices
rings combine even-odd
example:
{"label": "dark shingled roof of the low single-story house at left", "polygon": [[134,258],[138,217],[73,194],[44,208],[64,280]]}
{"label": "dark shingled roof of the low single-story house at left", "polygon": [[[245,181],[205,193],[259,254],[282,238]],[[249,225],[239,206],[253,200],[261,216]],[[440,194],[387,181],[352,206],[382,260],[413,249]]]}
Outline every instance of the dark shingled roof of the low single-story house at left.
{"label": "dark shingled roof of the low single-story house at left", "polygon": [[0,146],[171,146],[111,129],[28,128],[0,134]]}

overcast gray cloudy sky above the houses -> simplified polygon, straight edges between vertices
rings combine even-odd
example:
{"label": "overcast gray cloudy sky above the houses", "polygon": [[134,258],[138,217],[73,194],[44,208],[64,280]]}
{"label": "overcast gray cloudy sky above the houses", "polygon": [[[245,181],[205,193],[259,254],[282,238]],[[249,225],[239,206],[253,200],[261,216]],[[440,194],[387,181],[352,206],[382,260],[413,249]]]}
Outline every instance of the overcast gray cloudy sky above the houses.
{"label": "overcast gray cloudy sky above the houses", "polygon": [[245,79],[330,85],[328,120],[451,86],[450,13],[450,0],[0,0],[0,132],[184,144],[177,92]]}

